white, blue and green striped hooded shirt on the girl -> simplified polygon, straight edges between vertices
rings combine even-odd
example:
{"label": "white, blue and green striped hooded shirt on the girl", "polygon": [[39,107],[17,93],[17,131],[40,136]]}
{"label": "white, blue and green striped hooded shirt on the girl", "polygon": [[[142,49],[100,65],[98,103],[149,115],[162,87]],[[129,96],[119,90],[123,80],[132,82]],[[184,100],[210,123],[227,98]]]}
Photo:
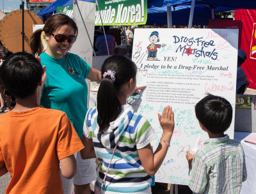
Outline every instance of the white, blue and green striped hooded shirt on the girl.
{"label": "white, blue and green striped hooded shirt on the girl", "polygon": [[123,105],[122,112],[109,123],[109,128],[99,132],[97,108],[94,107],[86,114],[84,136],[92,138],[95,154],[101,163],[97,178],[99,187],[118,142],[102,189],[104,193],[141,193],[148,190],[152,179],[145,172],[138,155],[138,149],[156,138],[147,119],[134,113],[130,105]]}

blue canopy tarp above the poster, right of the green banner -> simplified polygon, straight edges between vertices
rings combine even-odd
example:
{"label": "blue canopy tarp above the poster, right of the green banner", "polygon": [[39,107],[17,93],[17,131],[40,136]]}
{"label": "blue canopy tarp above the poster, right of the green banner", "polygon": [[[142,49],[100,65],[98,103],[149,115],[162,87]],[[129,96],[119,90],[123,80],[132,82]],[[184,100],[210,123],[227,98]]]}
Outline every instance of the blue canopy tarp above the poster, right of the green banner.
{"label": "blue canopy tarp above the poster, right of the green banner", "polygon": [[[255,0],[248,0],[248,3],[253,4],[256,9],[256,3],[254,3],[254,1]],[[188,25],[191,0],[163,0],[161,2],[163,3],[161,7],[148,7],[147,24],[167,24],[167,6],[171,6],[172,24]],[[154,2],[152,3],[154,4]],[[212,18],[212,8],[214,8],[214,12],[221,12],[248,7],[252,6],[248,6],[247,1],[246,5],[245,3],[243,5],[241,0],[196,0],[192,24],[207,26],[209,19]],[[214,18],[218,19],[219,17],[215,15]]]}

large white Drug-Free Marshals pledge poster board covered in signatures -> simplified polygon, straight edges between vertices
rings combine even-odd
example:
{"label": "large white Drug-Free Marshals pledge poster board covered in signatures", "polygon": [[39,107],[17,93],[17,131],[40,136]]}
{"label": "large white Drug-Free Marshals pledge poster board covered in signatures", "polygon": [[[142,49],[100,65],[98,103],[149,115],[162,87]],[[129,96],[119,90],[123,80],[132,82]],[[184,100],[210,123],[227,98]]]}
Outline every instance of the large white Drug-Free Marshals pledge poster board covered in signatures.
{"label": "large white Drug-Free Marshals pledge poster board covered in signatures", "polygon": [[[154,148],[162,135],[157,113],[171,105],[175,114],[171,147],[156,182],[188,184],[186,151],[202,147],[209,138],[195,117],[195,104],[205,93],[225,97],[234,114],[237,40],[237,29],[135,29],[132,61],[138,67],[137,86],[147,88],[133,107],[154,128]],[[234,116],[226,133],[234,137]]]}

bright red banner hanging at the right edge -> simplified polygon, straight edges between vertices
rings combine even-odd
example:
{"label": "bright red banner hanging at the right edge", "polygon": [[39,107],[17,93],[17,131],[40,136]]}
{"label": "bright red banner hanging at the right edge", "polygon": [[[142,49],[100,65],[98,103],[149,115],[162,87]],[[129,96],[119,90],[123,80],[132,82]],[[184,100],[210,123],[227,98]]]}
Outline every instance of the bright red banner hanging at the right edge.
{"label": "bright red banner hanging at the right edge", "polygon": [[256,89],[256,10],[236,10],[235,19],[243,21],[241,49],[247,54],[246,61],[242,64],[250,85]]}

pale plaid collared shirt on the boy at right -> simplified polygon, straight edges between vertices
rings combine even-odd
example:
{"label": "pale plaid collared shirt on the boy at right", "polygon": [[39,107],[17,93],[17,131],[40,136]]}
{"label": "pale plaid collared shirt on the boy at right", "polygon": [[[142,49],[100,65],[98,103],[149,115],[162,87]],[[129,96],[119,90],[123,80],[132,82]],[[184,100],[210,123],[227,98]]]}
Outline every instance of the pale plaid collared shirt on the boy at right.
{"label": "pale plaid collared shirt on the boy at right", "polygon": [[225,135],[206,140],[197,151],[188,186],[193,193],[238,194],[246,176],[243,147]]}

